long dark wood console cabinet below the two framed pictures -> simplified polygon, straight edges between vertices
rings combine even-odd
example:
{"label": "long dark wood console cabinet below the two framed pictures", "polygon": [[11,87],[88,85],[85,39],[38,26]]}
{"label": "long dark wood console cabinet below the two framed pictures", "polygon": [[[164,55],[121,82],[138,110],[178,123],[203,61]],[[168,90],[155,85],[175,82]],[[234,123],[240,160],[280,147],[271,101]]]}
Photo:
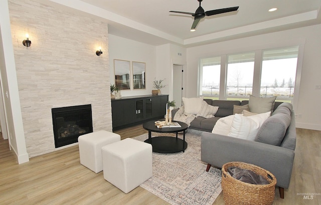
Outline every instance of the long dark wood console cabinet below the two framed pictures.
{"label": "long dark wood console cabinet below the two framed pictures", "polygon": [[140,95],[111,99],[112,130],[164,118],[169,95]]}

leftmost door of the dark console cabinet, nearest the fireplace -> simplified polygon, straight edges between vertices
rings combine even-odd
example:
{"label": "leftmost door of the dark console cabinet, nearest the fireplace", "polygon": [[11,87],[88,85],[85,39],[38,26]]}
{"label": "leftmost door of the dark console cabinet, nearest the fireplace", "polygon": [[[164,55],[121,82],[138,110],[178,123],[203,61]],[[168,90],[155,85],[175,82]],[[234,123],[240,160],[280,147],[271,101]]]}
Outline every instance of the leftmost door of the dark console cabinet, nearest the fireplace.
{"label": "leftmost door of the dark console cabinet, nearest the fireplace", "polygon": [[135,119],[135,105],[133,100],[111,101],[112,127],[132,123]]}

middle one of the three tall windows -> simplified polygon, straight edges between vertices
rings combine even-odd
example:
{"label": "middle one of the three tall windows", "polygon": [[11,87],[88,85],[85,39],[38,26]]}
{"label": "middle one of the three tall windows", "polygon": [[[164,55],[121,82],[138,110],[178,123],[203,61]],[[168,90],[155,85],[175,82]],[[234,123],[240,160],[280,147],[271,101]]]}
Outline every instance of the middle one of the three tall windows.
{"label": "middle one of the three tall windows", "polygon": [[255,53],[228,56],[226,96],[228,98],[249,97],[253,88]]}

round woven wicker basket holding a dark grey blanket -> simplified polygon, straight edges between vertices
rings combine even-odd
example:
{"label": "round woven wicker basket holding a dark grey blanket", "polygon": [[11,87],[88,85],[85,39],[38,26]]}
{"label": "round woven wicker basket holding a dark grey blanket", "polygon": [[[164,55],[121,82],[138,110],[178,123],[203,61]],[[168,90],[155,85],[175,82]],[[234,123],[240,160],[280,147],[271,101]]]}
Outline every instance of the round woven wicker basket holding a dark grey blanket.
{"label": "round woven wicker basket holding a dark grey blanket", "polygon": [[[237,166],[243,169],[252,170],[254,173],[262,175],[270,183],[265,185],[250,184],[233,178],[228,173],[228,167]],[[270,178],[269,178],[270,177]],[[222,189],[225,204],[272,204],[275,194],[275,176],[253,164],[244,162],[229,162],[222,167]]]}

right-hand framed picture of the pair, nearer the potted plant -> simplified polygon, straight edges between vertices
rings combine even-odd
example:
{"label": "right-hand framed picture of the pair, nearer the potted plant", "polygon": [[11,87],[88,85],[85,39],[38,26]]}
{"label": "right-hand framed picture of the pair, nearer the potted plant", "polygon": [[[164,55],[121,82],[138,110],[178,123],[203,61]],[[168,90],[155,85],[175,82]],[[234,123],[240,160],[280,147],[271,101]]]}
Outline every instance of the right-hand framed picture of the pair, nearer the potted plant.
{"label": "right-hand framed picture of the pair, nearer the potted plant", "polygon": [[134,89],[146,89],[146,63],[132,62]]}

